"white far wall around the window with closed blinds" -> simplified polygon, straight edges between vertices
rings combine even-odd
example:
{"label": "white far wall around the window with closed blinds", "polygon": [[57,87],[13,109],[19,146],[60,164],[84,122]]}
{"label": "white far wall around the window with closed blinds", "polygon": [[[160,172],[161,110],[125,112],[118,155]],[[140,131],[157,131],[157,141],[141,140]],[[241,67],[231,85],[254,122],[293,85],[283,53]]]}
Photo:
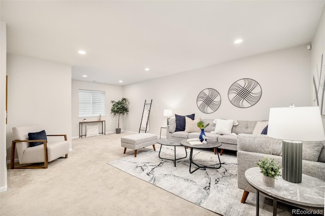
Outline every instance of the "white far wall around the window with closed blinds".
{"label": "white far wall around the window with closed blinds", "polygon": [[[83,81],[72,81],[72,136],[79,137],[79,122],[82,121],[83,118],[78,118],[78,97],[79,97],[79,89],[85,90],[94,90],[94,91],[105,91],[105,99],[106,99],[106,115],[102,115],[102,120],[106,121],[106,132],[115,132],[115,128],[117,128],[117,116],[113,117],[111,115],[111,100],[119,100],[122,98],[122,86],[117,85],[107,85],[101,83],[92,83],[92,82],[83,82]],[[85,118],[87,120],[98,120],[98,118]],[[123,119],[123,117],[122,117]],[[122,120],[121,119],[121,120]],[[123,121],[120,120],[120,128],[124,130]],[[90,123],[89,123],[90,124]],[[85,134],[85,125],[83,126],[83,134]],[[100,131],[102,130],[100,125]]]}

